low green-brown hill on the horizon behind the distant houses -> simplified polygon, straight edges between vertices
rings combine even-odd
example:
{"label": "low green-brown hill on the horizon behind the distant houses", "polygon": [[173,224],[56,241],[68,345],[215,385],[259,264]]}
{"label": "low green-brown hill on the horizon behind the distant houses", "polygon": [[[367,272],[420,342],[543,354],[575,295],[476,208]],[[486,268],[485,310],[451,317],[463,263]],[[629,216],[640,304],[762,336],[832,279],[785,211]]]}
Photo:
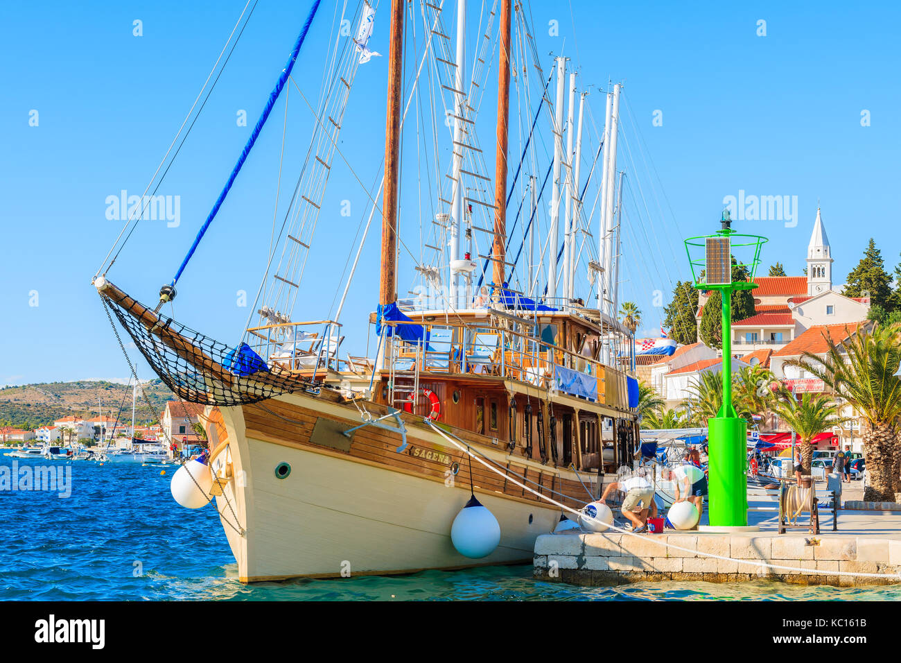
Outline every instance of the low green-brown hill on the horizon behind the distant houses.
{"label": "low green-brown hill on the horizon behind the distant houses", "polygon": [[[161,380],[143,382],[142,387],[153,412],[148,411],[139,394],[135,418],[141,423],[156,421],[166,401],[175,396]],[[122,405],[121,419],[132,420],[132,387],[115,382],[79,380],[0,388],[0,426],[32,430],[63,417],[96,417],[98,399],[107,417],[115,417]]]}

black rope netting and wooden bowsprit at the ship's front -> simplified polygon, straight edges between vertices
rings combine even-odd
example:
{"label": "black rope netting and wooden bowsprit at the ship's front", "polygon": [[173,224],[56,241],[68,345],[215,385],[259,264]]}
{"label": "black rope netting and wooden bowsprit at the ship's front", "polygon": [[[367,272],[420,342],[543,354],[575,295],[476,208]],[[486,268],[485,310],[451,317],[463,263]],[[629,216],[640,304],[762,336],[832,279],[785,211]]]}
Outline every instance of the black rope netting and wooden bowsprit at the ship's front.
{"label": "black rope netting and wooden bowsprit at the ship's front", "polygon": [[120,303],[103,294],[100,299],[107,314],[112,309],[141,355],[182,401],[233,406],[294,391],[319,391],[319,384],[309,378],[284,372],[278,365],[270,368],[246,344],[229,347],[172,318],[151,313],[134,300]]}

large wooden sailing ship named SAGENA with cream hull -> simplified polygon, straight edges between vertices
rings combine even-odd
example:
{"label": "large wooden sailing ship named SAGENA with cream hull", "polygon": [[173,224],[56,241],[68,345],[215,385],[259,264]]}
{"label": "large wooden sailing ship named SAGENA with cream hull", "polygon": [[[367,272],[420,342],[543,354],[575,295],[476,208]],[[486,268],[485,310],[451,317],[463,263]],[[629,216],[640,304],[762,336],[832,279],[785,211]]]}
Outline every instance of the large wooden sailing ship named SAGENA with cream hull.
{"label": "large wooden sailing ship named SAGENA with cream hull", "polygon": [[[554,299],[506,282],[516,8],[499,5],[492,269],[478,298],[468,280],[475,263],[457,253],[449,281],[466,279],[465,294],[439,307],[398,307],[404,0],[389,13],[379,300],[369,318],[375,355],[342,358],[337,319],[296,322],[267,308],[259,308],[262,324],[247,328],[248,343],[229,347],[141,305],[105,273],[94,281],[159,376],[207,406],[208,491],[243,582],[529,560],[534,539],[560,520],[549,500],[580,508],[596,499],[605,472],[633,456],[637,382],[628,357],[610,349],[627,347],[629,336],[614,308],[604,297],[586,308],[571,287]],[[371,11],[365,5],[370,23]],[[359,36],[357,44],[368,52]],[[459,164],[455,172],[459,180]],[[461,216],[462,187],[453,198],[451,223]],[[607,198],[612,207],[613,189]],[[161,301],[175,296],[174,285]],[[478,559],[451,542],[451,523],[473,494],[501,531],[494,552]]]}

